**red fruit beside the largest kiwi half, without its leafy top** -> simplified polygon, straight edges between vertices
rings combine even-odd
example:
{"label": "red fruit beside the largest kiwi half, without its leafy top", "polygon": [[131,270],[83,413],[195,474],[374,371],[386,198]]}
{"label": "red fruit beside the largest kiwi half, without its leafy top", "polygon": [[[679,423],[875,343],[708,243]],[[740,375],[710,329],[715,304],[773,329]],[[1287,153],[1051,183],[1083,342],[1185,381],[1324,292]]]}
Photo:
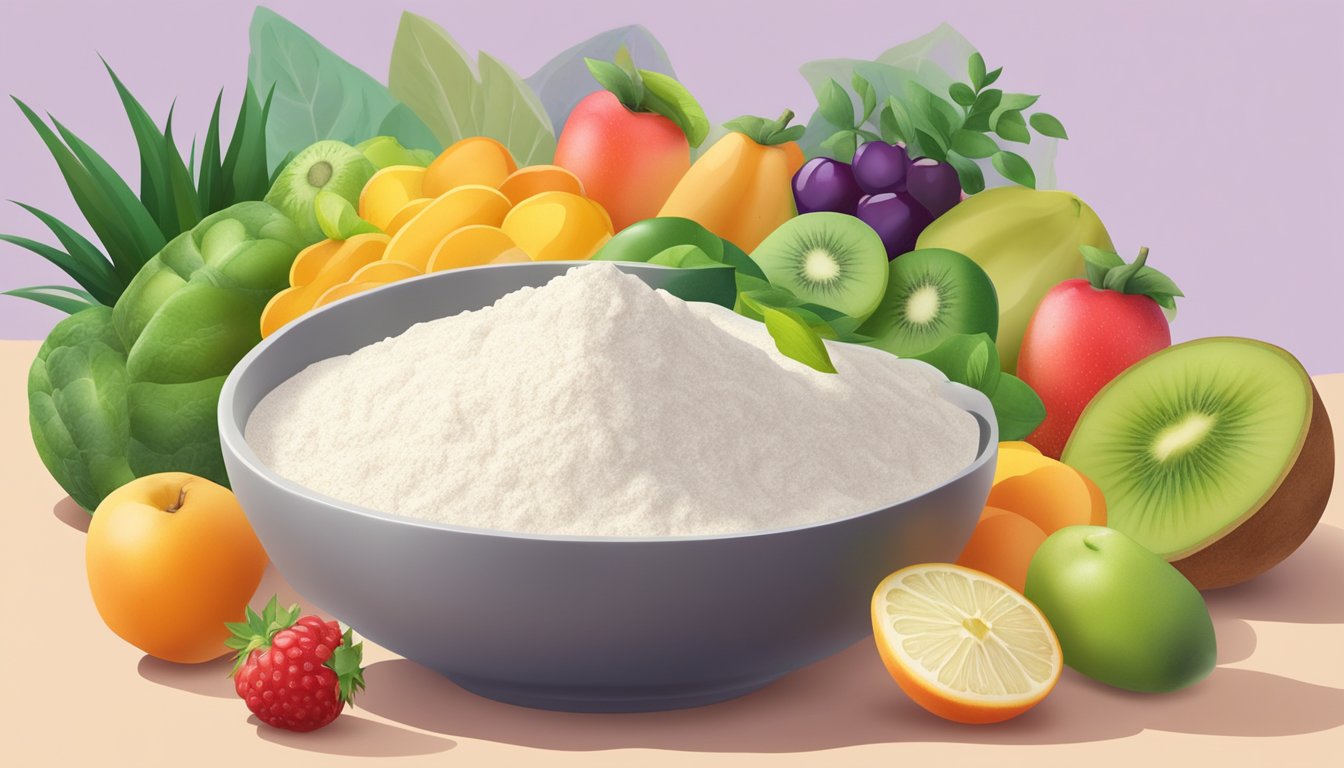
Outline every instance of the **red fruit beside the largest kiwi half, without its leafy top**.
{"label": "red fruit beside the largest kiwi half, without its leafy top", "polygon": [[1027,437],[1059,459],[1083,408],[1121,371],[1172,343],[1163,308],[1148,296],[1066,280],[1050,289],[1027,324],[1017,377],[1046,404]]}

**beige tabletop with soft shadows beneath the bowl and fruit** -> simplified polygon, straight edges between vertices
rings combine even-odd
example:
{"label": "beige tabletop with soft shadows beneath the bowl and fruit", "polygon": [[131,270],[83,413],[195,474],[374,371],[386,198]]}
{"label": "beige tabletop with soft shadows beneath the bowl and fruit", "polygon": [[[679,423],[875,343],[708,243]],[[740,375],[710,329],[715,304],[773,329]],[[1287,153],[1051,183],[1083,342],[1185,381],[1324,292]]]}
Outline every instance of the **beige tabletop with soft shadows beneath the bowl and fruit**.
{"label": "beige tabletop with soft shadows beneath the bowl and fruit", "polygon": [[[1064,670],[1017,720],[961,726],[900,693],[871,640],[751,695],[652,714],[496,703],[383,648],[368,690],[308,734],[251,718],[226,662],[145,656],[98,619],[83,568],[87,515],[32,449],[35,342],[0,342],[0,585],[8,765],[1325,765],[1344,752],[1344,495],[1289,560],[1207,594],[1218,668],[1165,695]],[[1344,374],[1317,377],[1344,434]],[[1344,459],[1344,451],[1336,451]],[[258,594],[293,596],[274,574]]]}

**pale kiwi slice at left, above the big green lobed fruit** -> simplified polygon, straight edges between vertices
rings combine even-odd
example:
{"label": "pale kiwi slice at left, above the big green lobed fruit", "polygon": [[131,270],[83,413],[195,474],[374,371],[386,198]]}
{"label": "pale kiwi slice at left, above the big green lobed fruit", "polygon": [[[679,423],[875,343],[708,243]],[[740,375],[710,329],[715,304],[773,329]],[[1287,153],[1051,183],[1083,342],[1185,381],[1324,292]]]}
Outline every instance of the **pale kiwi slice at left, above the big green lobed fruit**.
{"label": "pale kiwi slice at left, above the big green lobed fruit", "polygon": [[298,225],[308,242],[323,239],[314,211],[317,192],[325,190],[359,203],[359,192],[374,175],[374,164],[359,149],[343,141],[319,141],[285,165],[266,192],[266,202]]}

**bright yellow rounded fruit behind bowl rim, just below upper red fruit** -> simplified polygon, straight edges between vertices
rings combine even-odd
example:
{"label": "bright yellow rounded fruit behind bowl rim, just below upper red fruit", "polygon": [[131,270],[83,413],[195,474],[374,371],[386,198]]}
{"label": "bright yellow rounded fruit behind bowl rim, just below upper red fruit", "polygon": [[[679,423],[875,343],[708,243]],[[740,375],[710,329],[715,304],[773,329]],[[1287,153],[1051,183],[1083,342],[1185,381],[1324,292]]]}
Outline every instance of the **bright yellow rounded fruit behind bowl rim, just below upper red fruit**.
{"label": "bright yellow rounded fruit behind bowl rim, just below upper red fruit", "polygon": [[513,207],[500,225],[532,261],[590,258],[612,239],[601,206],[573,192],[542,192]]}

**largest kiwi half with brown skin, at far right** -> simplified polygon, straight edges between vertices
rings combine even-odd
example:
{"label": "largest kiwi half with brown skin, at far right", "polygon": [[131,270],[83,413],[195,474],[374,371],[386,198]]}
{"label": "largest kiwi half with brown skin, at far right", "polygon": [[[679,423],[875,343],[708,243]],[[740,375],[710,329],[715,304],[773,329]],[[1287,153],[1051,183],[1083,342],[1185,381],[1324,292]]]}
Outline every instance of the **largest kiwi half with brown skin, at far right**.
{"label": "largest kiwi half with brown skin, at far right", "polygon": [[1063,461],[1102,490],[1110,527],[1216,589],[1269,570],[1312,533],[1335,482],[1335,437],[1293,355],[1212,338],[1102,387]]}

